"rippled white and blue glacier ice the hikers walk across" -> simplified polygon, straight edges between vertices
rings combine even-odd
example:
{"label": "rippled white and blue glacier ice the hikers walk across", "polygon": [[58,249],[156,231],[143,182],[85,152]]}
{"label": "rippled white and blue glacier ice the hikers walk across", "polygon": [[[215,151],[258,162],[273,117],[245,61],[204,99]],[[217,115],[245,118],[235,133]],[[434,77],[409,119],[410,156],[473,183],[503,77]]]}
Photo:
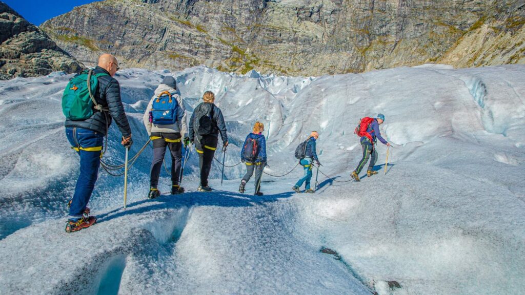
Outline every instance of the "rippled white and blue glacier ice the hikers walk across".
{"label": "rippled white and blue glacier ice the hikers walk across", "polygon": [[[163,75],[176,77],[188,113],[204,91],[216,93],[230,138],[227,165],[240,161],[240,145],[259,120],[266,172],[289,171],[296,145],[317,130],[322,171],[349,180],[361,159],[354,128],[377,113],[394,145],[391,165],[383,175],[378,144],[381,171],[360,183],[319,174],[316,194],[292,194],[297,169],[264,175],[265,196],[255,197],[250,184],[245,194],[231,193],[243,165],[226,168],[221,187],[214,162],[216,191],[203,194],[195,192],[193,151],[184,170],[188,193],[149,200],[146,148],[130,169],[128,209],[123,178],[101,170],[90,201],[99,223],[66,234],[78,157],[64,134],[60,98],[71,76],[2,81],[0,293],[525,293],[525,66],[307,78],[121,70],[131,155],[147,139],[142,112]],[[119,138],[113,126],[107,162],[122,163]],[[166,192],[170,178],[162,173]]]}

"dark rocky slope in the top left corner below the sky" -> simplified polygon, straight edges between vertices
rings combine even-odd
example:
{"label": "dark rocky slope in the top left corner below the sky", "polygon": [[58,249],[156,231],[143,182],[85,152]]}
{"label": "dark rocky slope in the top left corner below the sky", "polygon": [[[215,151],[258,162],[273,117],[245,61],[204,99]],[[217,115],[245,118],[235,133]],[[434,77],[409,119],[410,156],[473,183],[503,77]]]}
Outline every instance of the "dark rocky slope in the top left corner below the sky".
{"label": "dark rocky slope in the top left corner below the sky", "polygon": [[74,57],[5,3],[0,2],[0,80],[81,70]]}

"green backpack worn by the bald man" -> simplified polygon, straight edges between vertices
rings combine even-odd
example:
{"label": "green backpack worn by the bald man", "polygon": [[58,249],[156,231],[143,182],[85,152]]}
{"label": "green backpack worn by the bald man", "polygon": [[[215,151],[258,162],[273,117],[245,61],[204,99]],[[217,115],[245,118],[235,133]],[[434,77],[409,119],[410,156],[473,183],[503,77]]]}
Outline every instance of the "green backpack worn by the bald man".
{"label": "green backpack worn by the bald man", "polygon": [[91,118],[93,109],[107,111],[97,104],[92,93],[97,91],[98,77],[107,73],[92,74],[86,70],[73,77],[62,94],[62,112],[69,120],[81,121]]}

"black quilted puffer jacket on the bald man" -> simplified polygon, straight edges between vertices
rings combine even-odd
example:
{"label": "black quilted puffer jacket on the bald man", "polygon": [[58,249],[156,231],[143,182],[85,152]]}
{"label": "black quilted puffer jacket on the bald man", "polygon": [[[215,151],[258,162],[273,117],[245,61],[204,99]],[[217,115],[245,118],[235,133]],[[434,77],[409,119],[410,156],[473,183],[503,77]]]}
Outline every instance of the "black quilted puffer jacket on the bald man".
{"label": "black quilted puffer jacket on the bald man", "polygon": [[[101,67],[96,67],[93,69],[93,73],[102,73],[105,72],[109,75],[107,70],[104,70]],[[128,118],[124,112],[124,106],[122,106],[122,101],[120,99],[120,85],[117,80],[111,76],[102,76],[98,78],[99,87],[97,91],[93,94],[95,100],[100,104],[104,109],[109,109],[108,112],[99,112],[93,109],[93,115],[91,118],[83,121],[73,121],[66,119],[64,125],[66,127],[80,127],[93,131],[97,131],[106,135],[106,120],[107,127],[111,124],[111,118],[117,123],[122,136],[128,137],[131,135],[130,124],[128,123]]]}

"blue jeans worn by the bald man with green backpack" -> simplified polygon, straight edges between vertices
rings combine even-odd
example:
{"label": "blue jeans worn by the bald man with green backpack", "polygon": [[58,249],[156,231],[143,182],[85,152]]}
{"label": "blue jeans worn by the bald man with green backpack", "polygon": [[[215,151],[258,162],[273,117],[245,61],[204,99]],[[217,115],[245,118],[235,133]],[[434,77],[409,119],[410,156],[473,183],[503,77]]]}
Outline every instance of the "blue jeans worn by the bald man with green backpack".
{"label": "blue jeans worn by the bald man with green backpack", "polygon": [[104,137],[100,132],[78,127],[67,127],[66,136],[72,148],[80,156],[80,175],[69,207],[69,219],[75,220],[82,217],[95,188]]}

